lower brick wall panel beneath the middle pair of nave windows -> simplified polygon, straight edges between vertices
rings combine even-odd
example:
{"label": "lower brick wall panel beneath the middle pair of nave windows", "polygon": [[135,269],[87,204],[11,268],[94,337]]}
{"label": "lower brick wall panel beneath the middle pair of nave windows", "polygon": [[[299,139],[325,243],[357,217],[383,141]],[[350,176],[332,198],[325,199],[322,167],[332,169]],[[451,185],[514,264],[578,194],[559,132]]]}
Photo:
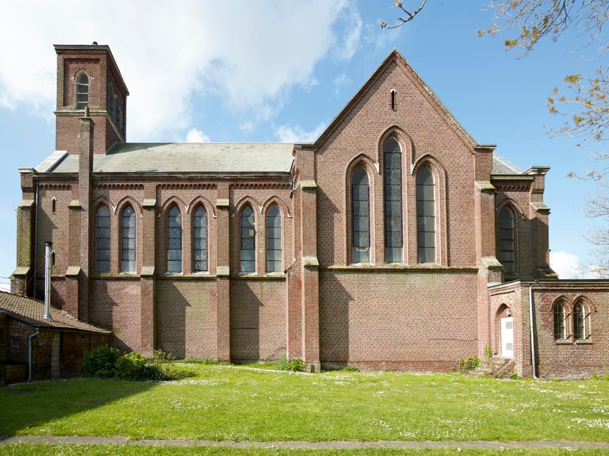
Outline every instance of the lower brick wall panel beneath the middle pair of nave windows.
{"label": "lower brick wall panel beneath the middle pair of nave windows", "polygon": [[215,280],[160,278],[156,295],[157,348],[177,358],[216,358]]}

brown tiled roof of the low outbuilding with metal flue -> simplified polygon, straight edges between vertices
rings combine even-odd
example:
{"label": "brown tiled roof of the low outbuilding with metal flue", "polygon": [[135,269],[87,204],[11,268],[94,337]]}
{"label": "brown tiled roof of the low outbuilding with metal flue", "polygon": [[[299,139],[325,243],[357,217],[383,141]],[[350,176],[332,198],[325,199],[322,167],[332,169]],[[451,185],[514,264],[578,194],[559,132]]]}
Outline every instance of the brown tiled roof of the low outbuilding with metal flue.
{"label": "brown tiled roof of the low outbuilding with metal flue", "polygon": [[26,296],[0,292],[0,312],[5,312],[16,320],[32,324],[37,328],[51,328],[58,331],[85,331],[110,334],[107,329],[76,320],[72,315],[51,306],[52,320],[44,319],[44,303]]}

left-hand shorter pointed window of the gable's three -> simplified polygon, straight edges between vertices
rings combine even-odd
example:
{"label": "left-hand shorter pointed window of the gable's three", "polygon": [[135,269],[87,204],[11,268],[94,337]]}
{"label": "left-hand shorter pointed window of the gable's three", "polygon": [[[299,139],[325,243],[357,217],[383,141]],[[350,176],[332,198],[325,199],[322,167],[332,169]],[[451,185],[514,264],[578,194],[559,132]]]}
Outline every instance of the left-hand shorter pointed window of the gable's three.
{"label": "left-hand shorter pointed window of the gable's three", "polygon": [[351,176],[351,239],[353,262],[370,262],[370,183],[368,173],[358,166]]}

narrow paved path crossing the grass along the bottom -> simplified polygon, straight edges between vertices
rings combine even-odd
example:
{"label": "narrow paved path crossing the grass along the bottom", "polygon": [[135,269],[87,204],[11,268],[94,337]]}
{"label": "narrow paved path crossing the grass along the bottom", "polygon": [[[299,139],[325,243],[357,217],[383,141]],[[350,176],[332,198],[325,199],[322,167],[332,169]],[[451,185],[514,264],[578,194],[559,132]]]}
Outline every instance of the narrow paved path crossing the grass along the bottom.
{"label": "narrow paved path crossing the grass along the bottom", "polygon": [[523,449],[523,448],[607,448],[609,442],[578,442],[578,441],[549,441],[536,440],[529,442],[518,441],[395,441],[381,440],[364,441],[276,441],[276,442],[247,442],[247,441],[215,441],[215,440],[161,440],[143,439],[132,440],[130,437],[56,437],[52,435],[16,435],[0,440],[0,445],[30,443],[30,444],[94,444],[112,445],[127,444],[140,446],[224,446],[231,448],[288,448],[288,449],[361,449],[361,448],[390,448],[390,449],[426,449],[426,448],[479,448],[479,449]]}

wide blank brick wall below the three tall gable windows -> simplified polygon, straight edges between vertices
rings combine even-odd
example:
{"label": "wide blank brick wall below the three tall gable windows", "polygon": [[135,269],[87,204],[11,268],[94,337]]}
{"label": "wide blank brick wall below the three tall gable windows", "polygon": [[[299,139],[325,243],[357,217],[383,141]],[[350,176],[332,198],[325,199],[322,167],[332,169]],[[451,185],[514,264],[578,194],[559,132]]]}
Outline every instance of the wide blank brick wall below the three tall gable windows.
{"label": "wide blank brick wall below the three tall gable windows", "polygon": [[326,365],[450,368],[476,354],[476,271],[320,271]]}

